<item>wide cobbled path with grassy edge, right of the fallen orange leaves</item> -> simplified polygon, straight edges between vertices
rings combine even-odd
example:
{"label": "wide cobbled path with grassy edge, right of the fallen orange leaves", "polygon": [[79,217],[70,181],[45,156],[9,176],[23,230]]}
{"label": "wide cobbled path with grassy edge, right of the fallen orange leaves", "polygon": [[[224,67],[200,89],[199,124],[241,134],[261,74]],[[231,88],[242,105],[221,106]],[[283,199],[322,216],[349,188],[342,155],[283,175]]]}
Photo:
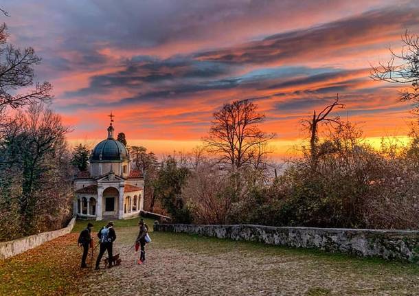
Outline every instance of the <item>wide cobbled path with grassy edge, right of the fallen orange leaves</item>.
{"label": "wide cobbled path with grassy edge, right of the fallen orange leaves", "polygon": [[[136,229],[121,231],[117,251]],[[258,244],[152,234],[146,264],[123,254],[91,273],[83,295],[419,295],[418,269]]]}

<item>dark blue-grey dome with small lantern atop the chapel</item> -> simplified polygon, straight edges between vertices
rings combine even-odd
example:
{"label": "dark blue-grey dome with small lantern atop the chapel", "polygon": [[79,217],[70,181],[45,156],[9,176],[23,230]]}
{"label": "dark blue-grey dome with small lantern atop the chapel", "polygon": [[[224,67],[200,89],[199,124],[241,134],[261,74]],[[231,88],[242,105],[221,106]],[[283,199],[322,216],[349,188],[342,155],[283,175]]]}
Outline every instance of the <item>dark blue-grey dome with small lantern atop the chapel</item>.
{"label": "dark blue-grey dome with small lantern atop the chapel", "polygon": [[120,141],[113,139],[113,126],[108,128],[108,139],[104,139],[93,149],[91,160],[126,160],[128,159],[128,150]]}

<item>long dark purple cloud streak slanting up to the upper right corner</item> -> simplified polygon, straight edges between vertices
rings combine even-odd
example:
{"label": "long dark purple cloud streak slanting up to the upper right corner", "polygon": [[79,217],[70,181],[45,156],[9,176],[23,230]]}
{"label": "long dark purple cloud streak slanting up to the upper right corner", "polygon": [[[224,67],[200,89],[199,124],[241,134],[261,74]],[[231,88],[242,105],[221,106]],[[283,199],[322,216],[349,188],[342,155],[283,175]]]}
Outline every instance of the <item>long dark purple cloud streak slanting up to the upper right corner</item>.
{"label": "long dark purple cloud streak slanting up to the upper right corner", "polygon": [[[395,23],[395,20],[397,21]],[[419,8],[412,5],[372,10],[358,16],[326,23],[310,29],[275,34],[238,47],[196,54],[196,58],[231,64],[261,64],[302,57],[326,58],[346,47],[359,47],[374,39],[400,34],[419,23]]]}

